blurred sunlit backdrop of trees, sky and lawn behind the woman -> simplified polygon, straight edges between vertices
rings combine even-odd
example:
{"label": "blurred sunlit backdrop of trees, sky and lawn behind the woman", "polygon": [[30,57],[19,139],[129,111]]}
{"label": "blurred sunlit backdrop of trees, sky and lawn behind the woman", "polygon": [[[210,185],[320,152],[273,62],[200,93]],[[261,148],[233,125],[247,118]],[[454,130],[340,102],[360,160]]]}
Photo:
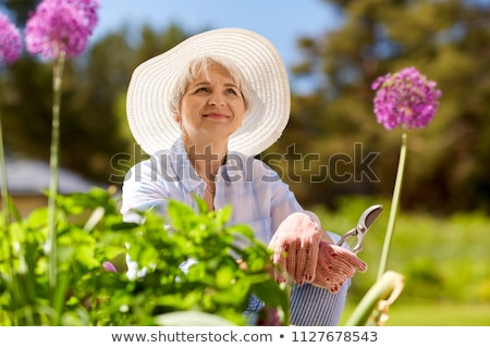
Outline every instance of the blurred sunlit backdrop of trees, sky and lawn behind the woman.
{"label": "blurred sunlit backdrop of trees, sky and lawn behind the woman", "polygon": [[[0,11],[23,27],[36,3],[1,0]],[[376,122],[370,85],[415,66],[442,99],[434,120],[408,135],[389,263],[406,286],[388,324],[490,325],[490,1],[100,0],[98,13],[63,80],[63,192],[120,188],[146,157],[124,110],[138,63],[201,30],[243,27],[275,45],[293,91],[289,127],[262,158],[279,154],[270,164],[298,200],[342,233],[368,204],[388,210],[393,190],[401,133]],[[24,54],[0,70],[8,177],[23,214],[45,203],[49,183],[51,69]],[[376,277],[387,219],[369,232],[360,257],[370,269],[356,275],[347,310]]]}

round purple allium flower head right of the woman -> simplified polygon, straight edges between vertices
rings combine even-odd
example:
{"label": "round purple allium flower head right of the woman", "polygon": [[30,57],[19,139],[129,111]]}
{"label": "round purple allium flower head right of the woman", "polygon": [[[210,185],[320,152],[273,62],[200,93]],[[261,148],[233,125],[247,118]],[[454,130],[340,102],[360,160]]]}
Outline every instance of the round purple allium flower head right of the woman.
{"label": "round purple allium flower head right of the woman", "polygon": [[436,83],[428,80],[415,67],[380,76],[371,89],[377,90],[373,103],[378,123],[389,130],[397,126],[408,129],[427,126],[442,96]]}

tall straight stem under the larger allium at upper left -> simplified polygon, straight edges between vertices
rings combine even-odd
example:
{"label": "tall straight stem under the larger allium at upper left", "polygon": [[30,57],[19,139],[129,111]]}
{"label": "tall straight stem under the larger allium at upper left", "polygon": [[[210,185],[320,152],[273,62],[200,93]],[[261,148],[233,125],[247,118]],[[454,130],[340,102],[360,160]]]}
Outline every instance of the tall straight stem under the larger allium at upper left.
{"label": "tall straight stem under the larger allium at upper left", "polygon": [[53,103],[52,103],[52,125],[51,125],[51,148],[50,148],[50,183],[48,200],[48,254],[49,254],[49,285],[52,290],[57,287],[58,258],[57,258],[57,196],[58,196],[58,172],[59,172],[59,148],[60,148],[60,104],[61,104],[61,82],[63,77],[65,54],[63,51],[53,65]]}

